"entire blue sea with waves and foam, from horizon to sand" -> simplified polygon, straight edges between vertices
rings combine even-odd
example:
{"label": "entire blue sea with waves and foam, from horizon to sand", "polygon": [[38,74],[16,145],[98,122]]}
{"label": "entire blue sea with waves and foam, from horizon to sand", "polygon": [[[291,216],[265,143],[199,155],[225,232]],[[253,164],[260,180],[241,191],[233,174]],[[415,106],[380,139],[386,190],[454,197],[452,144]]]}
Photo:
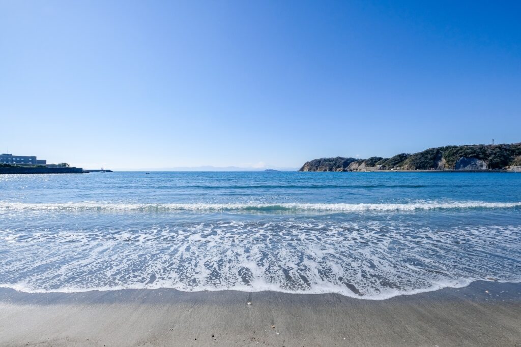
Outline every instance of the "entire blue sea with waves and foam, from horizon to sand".
{"label": "entire blue sea with waves and foam, from horizon to sand", "polygon": [[521,174],[0,175],[0,287],[336,292],[521,281]]}

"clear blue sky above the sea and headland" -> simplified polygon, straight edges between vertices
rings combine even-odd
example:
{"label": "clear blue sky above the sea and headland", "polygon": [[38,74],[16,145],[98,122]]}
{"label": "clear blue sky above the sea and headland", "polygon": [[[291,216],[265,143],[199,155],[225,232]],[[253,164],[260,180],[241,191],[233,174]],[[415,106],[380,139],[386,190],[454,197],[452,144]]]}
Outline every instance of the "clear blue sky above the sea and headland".
{"label": "clear blue sky above the sea and headland", "polygon": [[299,167],[521,141],[521,2],[1,1],[0,151]]}

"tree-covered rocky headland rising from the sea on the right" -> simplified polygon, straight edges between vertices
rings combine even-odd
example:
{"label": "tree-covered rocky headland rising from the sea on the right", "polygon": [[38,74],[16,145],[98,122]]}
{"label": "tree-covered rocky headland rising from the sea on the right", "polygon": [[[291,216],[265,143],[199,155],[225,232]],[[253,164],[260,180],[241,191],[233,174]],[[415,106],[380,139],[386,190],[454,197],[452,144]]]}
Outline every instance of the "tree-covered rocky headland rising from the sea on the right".
{"label": "tree-covered rocky headland rising from the sea on the right", "polygon": [[508,170],[521,165],[521,143],[464,145],[401,153],[392,158],[320,158],[306,162],[299,171],[373,170]]}

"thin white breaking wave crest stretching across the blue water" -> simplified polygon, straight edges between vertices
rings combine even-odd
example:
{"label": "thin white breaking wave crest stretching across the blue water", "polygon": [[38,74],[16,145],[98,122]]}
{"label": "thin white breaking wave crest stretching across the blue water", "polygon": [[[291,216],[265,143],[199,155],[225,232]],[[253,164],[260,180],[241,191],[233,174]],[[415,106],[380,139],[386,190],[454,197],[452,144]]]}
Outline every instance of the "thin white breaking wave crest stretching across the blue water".
{"label": "thin white breaking wave crest stretching across the blue water", "polygon": [[521,202],[413,202],[413,203],[24,203],[0,202],[2,210],[24,211],[414,211],[433,209],[506,209]]}

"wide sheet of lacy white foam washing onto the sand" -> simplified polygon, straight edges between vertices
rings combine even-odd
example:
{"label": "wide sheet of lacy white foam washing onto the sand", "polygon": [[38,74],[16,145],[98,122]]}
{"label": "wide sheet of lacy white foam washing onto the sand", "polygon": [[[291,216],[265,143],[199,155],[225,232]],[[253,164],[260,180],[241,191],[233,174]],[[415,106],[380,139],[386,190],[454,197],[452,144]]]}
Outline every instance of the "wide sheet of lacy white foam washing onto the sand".
{"label": "wide sheet of lacy white foam washing onto the sand", "polygon": [[0,252],[9,250],[0,258],[0,287],[333,292],[379,300],[491,277],[521,281],[521,225],[431,228],[302,216],[169,221],[126,229],[0,228]]}

